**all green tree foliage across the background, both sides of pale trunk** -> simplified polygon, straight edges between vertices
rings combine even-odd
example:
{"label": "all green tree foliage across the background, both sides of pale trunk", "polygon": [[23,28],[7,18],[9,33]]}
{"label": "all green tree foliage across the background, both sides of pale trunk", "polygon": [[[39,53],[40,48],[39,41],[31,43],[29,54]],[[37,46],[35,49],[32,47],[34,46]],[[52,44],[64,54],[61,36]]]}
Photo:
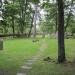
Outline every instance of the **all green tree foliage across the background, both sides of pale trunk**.
{"label": "all green tree foliage across the background, both sides of pale trunk", "polygon": [[[65,26],[67,25],[67,31],[74,33],[74,26],[71,22],[71,19],[75,21],[74,14],[74,0],[66,0],[64,1],[64,18],[65,18]],[[12,33],[12,29],[15,30],[15,33],[21,34],[30,31],[31,22],[33,18],[33,14],[35,10],[32,7],[32,4],[38,4],[40,10],[44,10],[44,19],[46,23],[41,23],[43,31],[47,32],[56,32],[58,29],[58,11],[57,11],[57,2],[55,0],[5,0],[4,3],[1,3],[0,15],[3,18],[1,21],[0,27],[3,29],[4,33]],[[40,11],[38,11],[40,12]],[[68,20],[68,16],[69,20]],[[40,17],[43,17],[42,15]],[[67,23],[68,22],[68,23]],[[13,25],[14,24],[14,25]],[[33,23],[32,23],[33,24]],[[46,25],[47,24],[47,25]],[[13,28],[14,26],[14,28]]]}

